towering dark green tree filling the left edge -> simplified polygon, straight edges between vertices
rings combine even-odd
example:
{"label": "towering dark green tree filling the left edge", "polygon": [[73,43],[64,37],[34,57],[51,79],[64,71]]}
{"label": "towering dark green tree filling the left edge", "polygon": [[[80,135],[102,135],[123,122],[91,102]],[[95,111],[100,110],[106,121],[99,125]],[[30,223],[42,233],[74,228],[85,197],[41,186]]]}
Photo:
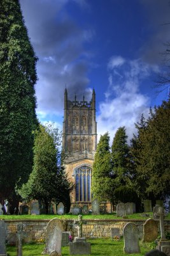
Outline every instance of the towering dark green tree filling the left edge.
{"label": "towering dark green tree filling the left edge", "polygon": [[11,199],[32,170],[37,58],[17,0],[0,3],[0,200]]}

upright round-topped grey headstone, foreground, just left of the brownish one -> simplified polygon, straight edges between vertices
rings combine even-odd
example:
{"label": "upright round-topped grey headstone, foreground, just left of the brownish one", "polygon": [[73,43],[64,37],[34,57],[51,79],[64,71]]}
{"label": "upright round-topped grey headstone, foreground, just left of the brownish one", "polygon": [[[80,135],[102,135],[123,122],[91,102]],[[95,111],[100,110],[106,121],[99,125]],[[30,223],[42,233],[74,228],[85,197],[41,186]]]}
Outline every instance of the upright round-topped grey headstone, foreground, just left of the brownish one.
{"label": "upright round-topped grey headstone, foreground, just left of the brownish one", "polygon": [[139,231],[136,225],[129,222],[125,225],[124,230],[124,253],[139,253]]}

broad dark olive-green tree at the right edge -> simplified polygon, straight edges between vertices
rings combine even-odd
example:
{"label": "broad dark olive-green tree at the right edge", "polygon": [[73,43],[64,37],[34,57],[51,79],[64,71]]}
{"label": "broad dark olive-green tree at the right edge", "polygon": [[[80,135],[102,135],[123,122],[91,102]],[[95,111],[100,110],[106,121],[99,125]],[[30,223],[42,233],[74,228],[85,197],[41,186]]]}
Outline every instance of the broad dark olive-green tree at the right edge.
{"label": "broad dark olive-green tree at the right edge", "polygon": [[150,109],[147,120],[141,116],[136,128],[131,141],[134,188],[143,199],[164,199],[170,195],[170,100]]}

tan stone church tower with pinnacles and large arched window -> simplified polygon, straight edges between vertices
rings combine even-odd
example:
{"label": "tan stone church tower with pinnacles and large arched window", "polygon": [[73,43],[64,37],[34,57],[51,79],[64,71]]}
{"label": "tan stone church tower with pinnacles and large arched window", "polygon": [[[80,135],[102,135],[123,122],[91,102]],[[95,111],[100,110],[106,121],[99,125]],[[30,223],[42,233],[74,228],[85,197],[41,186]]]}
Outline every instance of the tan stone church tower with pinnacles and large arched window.
{"label": "tan stone church tower with pinnacles and large arched window", "polygon": [[92,200],[92,164],[97,147],[96,93],[87,102],[69,100],[67,90],[64,92],[64,122],[62,147],[66,152],[65,166],[67,177],[75,188],[71,192],[71,204],[80,206]]}

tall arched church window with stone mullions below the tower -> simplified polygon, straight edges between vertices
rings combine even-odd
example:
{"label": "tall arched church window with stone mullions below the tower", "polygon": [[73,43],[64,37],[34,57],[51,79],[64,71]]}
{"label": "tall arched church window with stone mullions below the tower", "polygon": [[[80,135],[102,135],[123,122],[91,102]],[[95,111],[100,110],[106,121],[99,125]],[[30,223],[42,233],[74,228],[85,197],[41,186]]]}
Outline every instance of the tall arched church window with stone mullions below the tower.
{"label": "tall arched church window with stone mullions below the tower", "polygon": [[76,202],[91,201],[92,168],[80,166],[74,170],[76,181]]}

